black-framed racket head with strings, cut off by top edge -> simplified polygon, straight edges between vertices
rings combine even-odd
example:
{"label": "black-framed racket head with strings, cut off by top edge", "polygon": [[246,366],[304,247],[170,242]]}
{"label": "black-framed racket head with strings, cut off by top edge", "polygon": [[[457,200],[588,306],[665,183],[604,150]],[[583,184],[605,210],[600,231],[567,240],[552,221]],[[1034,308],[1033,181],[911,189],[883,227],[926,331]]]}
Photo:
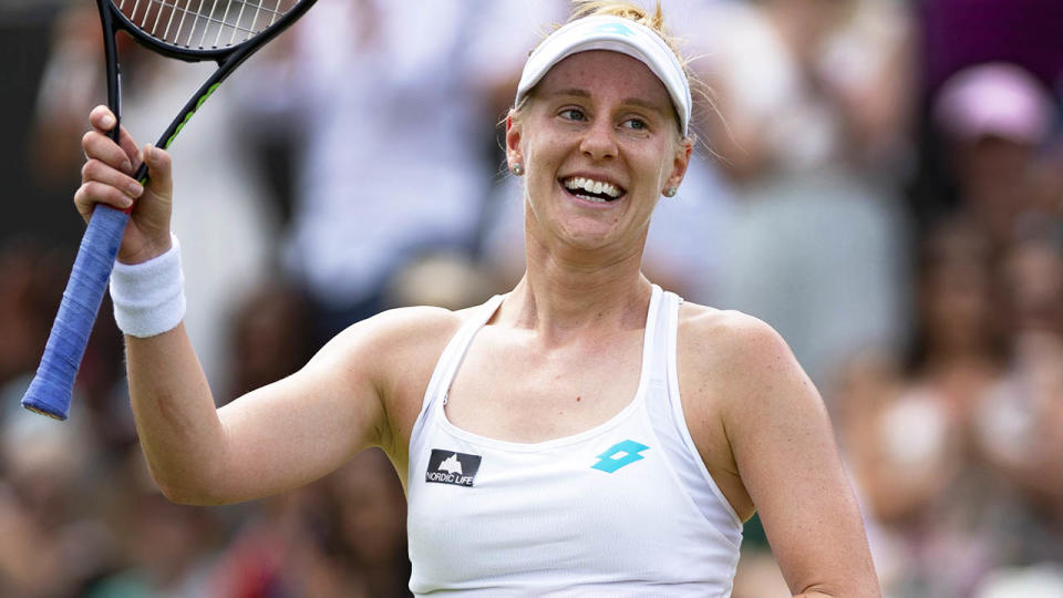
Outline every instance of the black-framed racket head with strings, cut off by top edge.
{"label": "black-framed racket head with strings, cut off by top edge", "polygon": [[163,55],[221,61],[266,43],[316,0],[96,0],[113,27]]}

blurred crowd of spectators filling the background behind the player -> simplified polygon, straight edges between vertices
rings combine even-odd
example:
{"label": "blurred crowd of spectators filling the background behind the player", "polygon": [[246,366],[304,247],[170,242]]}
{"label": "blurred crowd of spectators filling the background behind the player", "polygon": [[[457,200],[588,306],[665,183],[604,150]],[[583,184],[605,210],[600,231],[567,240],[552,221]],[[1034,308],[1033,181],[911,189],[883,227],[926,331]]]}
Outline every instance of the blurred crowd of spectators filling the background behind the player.
{"label": "blurred crowd of spectators filling the background behind the player", "polygon": [[[1063,3],[662,4],[705,102],[647,275],[791,343],[886,596],[1063,596]],[[515,282],[498,122],[567,9],[321,0],[211,97],[172,154],[186,326],[219,404],[380,310]],[[40,52],[11,87],[31,97],[9,118],[27,141],[3,158],[34,198],[0,226],[0,595],[405,596],[403,491],[378,451],[265,501],[163,498],[106,299],[70,421],[19,409],[105,94],[91,3],[14,3],[0,29]],[[120,53],[124,124],[154,142],[213,66]],[[755,519],[734,596],[788,596]]]}

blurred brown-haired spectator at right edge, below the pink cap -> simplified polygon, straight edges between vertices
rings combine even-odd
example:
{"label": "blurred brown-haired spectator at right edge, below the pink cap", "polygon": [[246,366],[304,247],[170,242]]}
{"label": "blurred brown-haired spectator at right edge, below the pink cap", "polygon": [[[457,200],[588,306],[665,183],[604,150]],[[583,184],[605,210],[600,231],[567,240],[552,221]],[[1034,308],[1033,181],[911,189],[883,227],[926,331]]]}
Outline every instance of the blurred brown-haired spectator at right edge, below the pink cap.
{"label": "blurred brown-haired spectator at right edge, below the pink cap", "polygon": [[1063,247],[1031,236],[1012,245],[998,274],[1009,307],[1010,360],[981,396],[979,448],[1013,488],[999,523],[1008,565],[1053,563],[1063,575]]}

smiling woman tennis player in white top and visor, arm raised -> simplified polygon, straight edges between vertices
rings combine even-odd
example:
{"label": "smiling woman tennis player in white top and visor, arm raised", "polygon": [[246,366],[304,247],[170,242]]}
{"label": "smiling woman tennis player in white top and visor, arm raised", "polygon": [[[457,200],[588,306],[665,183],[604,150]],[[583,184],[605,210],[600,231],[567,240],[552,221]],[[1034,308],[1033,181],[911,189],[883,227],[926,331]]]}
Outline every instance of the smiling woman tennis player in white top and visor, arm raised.
{"label": "smiling woman tennis player in white top and visor, arm raised", "polygon": [[381,446],[409,497],[417,595],[727,596],[756,509],[794,594],[877,596],[830,423],[784,341],[640,272],[693,146],[667,39],[660,9],[594,2],[532,53],[506,120],[527,247],[510,292],[359,322],[218,410],[180,324],[169,158],[145,148],[142,194],[136,144],[93,111],[75,203],[140,196],[112,296],[166,496],[247,501]]}

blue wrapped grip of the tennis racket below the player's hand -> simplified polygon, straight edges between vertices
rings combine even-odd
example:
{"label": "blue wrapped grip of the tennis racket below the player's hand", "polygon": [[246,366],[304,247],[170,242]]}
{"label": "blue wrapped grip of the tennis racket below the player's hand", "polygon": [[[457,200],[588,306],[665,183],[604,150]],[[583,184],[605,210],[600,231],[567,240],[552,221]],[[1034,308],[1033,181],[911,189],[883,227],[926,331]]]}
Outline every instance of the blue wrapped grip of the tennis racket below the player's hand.
{"label": "blue wrapped grip of the tennis racket below the player's hand", "polygon": [[96,321],[128,220],[127,213],[96,204],[89,228],[81,238],[41,365],[22,396],[25,409],[56,420],[66,419],[78,368],[89,344],[89,334]]}

